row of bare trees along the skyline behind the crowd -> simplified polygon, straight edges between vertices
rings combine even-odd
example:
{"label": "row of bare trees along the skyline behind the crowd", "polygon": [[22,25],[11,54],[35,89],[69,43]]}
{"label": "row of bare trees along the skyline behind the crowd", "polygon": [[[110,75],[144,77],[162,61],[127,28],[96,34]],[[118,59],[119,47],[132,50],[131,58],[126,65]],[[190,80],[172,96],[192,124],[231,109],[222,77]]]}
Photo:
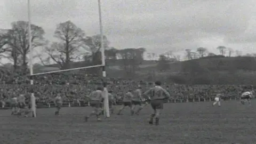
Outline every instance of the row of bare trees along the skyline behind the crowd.
{"label": "row of bare trees along the skyline behind the crowd", "polygon": [[[36,51],[33,59],[39,59],[38,65],[51,66],[53,63],[59,69],[69,69],[74,67],[84,67],[90,65],[99,65],[101,63],[101,37],[100,35],[86,36],[85,31],[77,27],[71,21],[61,22],[54,31],[54,38],[49,41],[45,38],[45,31],[42,27],[31,24],[31,47]],[[56,40],[56,41],[55,41]],[[116,49],[110,47],[107,36],[103,36],[105,47],[105,59],[109,63],[119,61],[119,67],[123,69],[126,75],[135,75],[140,69],[145,58],[151,61],[157,61],[158,68],[165,70],[169,68],[168,63],[180,61],[180,55],[175,55],[172,51],[157,55],[156,53],[147,53],[145,47]],[[225,46],[218,46],[220,55],[229,57],[242,55],[241,51],[234,51]],[[34,51],[33,50],[33,51]],[[27,70],[29,59],[29,36],[28,22],[15,21],[11,23],[11,28],[0,34],[0,58],[6,58],[12,62],[13,70]],[[196,51],[186,49],[186,58],[188,60],[203,58],[216,55],[207,51],[204,47],[199,47]],[[246,54],[254,56],[253,54]]]}

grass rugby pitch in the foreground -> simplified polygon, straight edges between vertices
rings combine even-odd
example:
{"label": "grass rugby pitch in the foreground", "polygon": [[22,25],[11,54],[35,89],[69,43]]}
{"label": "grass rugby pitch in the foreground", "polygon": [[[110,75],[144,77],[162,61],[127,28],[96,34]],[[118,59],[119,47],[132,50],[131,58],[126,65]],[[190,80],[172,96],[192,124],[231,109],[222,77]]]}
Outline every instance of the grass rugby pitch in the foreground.
{"label": "grass rugby pitch in the foreground", "polygon": [[18,118],[10,110],[0,111],[0,143],[256,143],[256,101],[252,106],[223,101],[221,107],[210,102],[166,103],[160,125],[149,125],[151,109],[139,116],[112,115],[102,122],[83,116],[89,107],[38,109],[37,118]]}

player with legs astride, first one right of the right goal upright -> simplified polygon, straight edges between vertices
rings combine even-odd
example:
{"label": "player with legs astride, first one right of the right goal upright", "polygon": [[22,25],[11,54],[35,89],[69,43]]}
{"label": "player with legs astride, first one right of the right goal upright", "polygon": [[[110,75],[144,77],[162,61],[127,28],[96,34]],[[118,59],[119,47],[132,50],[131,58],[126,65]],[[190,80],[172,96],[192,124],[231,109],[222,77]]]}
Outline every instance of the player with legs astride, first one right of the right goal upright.
{"label": "player with legs astride, first one right of the right goal upright", "polygon": [[120,115],[122,110],[126,107],[129,106],[130,110],[131,110],[131,114],[133,114],[133,110],[132,110],[132,98],[133,98],[133,94],[132,94],[132,90],[129,90],[128,92],[125,93],[124,98],[123,98],[123,105],[121,106],[121,108],[119,109],[117,115]]}

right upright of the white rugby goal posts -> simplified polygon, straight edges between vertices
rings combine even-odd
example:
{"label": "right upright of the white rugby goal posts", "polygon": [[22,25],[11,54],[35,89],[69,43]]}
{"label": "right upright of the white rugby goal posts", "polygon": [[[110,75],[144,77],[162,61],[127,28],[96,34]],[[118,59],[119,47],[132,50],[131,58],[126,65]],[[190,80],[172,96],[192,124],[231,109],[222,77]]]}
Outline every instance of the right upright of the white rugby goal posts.
{"label": "right upright of the white rugby goal posts", "polygon": [[103,26],[101,18],[101,3],[98,0],[98,10],[99,10],[99,24],[100,24],[100,47],[101,47],[101,64],[102,64],[102,83],[103,83],[103,97],[104,97],[104,114],[105,117],[110,117],[109,105],[108,105],[108,90],[106,81],[106,61],[105,61],[105,47],[104,47],[104,37],[103,37]]}

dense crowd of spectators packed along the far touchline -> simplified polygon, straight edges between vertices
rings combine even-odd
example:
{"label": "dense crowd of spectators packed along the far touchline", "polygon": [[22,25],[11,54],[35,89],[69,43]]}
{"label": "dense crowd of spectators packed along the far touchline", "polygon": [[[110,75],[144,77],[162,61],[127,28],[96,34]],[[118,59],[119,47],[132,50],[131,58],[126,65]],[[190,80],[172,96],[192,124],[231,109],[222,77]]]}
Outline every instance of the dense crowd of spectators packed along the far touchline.
{"label": "dense crowd of spectators packed along the far touchline", "polygon": [[[29,96],[31,85],[28,76],[2,72],[1,75],[1,98],[9,99],[12,95],[25,94]],[[57,93],[64,95],[65,101],[86,101],[85,95],[102,85],[102,79],[85,75],[84,73],[53,73],[37,75],[34,79],[34,93],[39,103],[49,103]],[[107,78],[108,90],[121,97],[130,89],[142,86],[143,91],[153,86],[153,82],[135,81],[134,79]],[[222,93],[227,99],[238,98],[245,90],[253,89],[245,85],[181,85],[163,83],[175,101],[209,100],[217,93]]]}

